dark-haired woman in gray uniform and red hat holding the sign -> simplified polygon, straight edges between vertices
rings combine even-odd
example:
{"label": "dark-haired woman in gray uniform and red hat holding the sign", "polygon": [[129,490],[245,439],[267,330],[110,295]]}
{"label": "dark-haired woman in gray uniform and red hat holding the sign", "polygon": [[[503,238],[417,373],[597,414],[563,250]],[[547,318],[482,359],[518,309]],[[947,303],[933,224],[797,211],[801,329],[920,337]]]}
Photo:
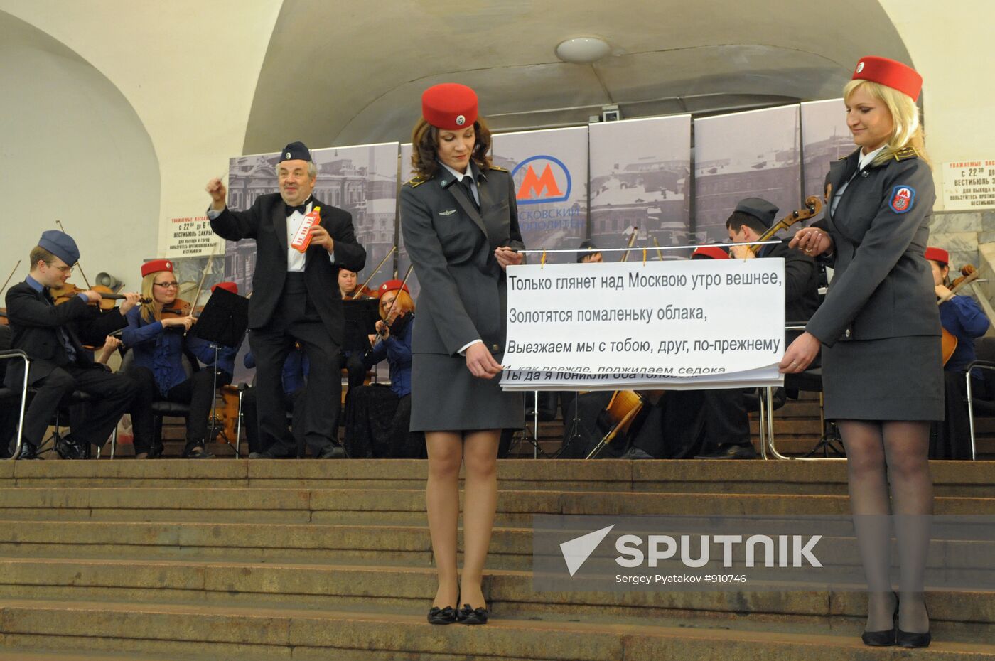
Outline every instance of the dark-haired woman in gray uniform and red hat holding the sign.
{"label": "dark-haired woman in gray uniform and red hat holding the sign", "polygon": [[[491,132],[478,117],[477,95],[466,86],[427,90],[411,141],[417,176],[401,188],[401,229],[421,284],[411,431],[425,432],[429,457],[426,503],[439,575],[429,621],[484,624],[481,581],[497,507],[497,442],[501,429],[524,421],[521,394],[497,384],[504,269],[521,262],[516,249],[523,247],[514,183],[507,170],[491,164]],[[466,495],[458,580],[461,464]]]}

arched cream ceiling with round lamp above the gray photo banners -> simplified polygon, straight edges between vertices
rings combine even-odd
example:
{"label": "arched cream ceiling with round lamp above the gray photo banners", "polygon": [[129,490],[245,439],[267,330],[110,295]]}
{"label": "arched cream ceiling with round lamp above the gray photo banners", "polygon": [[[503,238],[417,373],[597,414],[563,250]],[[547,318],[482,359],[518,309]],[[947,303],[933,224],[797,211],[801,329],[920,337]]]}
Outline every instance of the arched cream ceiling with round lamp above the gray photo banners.
{"label": "arched cream ceiling with round lamp above the gray photo banners", "polygon": [[[605,39],[594,65],[562,40]],[[285,0],[245,153],[406,141],[421,92],[473,87],[497,130],[623,116],[713,113],[833,98],[857,58],[910,62],[877,0]]]}

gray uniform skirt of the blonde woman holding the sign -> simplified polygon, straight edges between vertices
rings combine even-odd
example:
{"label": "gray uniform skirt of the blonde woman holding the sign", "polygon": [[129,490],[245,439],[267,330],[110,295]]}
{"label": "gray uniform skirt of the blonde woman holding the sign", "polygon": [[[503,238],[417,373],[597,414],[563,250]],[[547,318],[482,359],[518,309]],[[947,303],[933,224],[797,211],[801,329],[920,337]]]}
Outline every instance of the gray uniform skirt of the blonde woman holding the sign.
{"label": "gray uniform skirt of the blonde woman holding the sign", "polygon": [[822,351],[827,418],[943,419],[939,337],[838,341]]}

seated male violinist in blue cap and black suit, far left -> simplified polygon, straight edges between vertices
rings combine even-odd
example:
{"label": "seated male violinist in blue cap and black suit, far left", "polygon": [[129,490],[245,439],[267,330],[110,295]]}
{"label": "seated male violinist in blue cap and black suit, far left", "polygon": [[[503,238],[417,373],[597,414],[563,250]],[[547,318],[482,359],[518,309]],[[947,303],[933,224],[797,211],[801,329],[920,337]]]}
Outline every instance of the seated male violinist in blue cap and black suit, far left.
{"label": "seated male violinist in blue cap and black suit, far left", "polygon": [[[57,408],[75,390],[81,390],[94,401],[83,407],[85,410],[73,407],[72,433],[56,444],[64,459],[81,459],[91,444],[103,445],[134,395],[132,381],[95,363],[81,337],[102,341],[108,332],[123,329],[127,325],[124,314],[138,303],[138,295],[124,295],[118,308],[103,314],[88,305],[100,301],[100,294],[93,291],[56,306],[49,289],[61,287],[69,279],[80,259],[76,242],[64,232],[49,230],[42,234],[30,259],[28,277],[7,292],[13,348],[24,350],[31,358],[28,383],[37,389],[24,415],[20,458],[35,458]],[[6,383],[20,387],[23,378],[23,367],[17,363],[8,369]]]}

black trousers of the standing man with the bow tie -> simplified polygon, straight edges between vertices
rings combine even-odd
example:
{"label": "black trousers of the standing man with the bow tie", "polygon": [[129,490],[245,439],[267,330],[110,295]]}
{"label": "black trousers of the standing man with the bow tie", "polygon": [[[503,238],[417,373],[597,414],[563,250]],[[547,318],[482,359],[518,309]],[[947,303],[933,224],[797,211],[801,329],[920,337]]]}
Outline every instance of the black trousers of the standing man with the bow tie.
{"label": "black trousers of the standing man with the bow tie", "polygon": [[[281,305],[270,323],[249,333],[249,346],[256,358],[260,443],[273,448],[274,454],[297,455],[296,448],[291,452],[286,445],[287,412],[282,378],[284,361],[296,340],[308,361],[304,414],[298,427],[301,427],[311,453],[317,456],[329,450],[333,440],[338,438],[338,414],[342,405],[338,345],[332,341],[306,294],[291,288],[293,280],[288,278]],[[302,280],[300,282],[302,284]]]}

